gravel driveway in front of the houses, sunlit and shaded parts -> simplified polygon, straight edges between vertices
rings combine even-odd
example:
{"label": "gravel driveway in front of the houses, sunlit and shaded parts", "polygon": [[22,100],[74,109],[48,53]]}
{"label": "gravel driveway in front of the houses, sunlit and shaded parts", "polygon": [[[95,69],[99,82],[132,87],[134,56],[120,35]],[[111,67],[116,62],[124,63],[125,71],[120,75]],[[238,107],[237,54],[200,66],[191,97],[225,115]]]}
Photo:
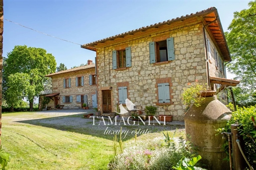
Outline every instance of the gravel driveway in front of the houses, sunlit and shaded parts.
{"label": "gravel driveway in front of the houses, sunlit and shaded parts", "polygon": [[[152,132],[161,132],[161,131],[167,131],[167,130],[175,130],[180,129],[184,130],[184,122],[171,122],[167,125],[159,125],[155,122],[155,125],[148,125],[146,122],[146,125],[139,123],[136,121],[136,124],[133,125],[133,121],[130,121],[128,124],[126,118],[125,118],[125,124],[124,122],[119,118],[113,124],[111,125],[110,120],[108,117],[104,118],[105,125],[103,123],[103,119],[99,117],[99,119],[94,119],[94,125],[93,125],[93,118],[84,118],[84,114],[86,113],[94,113],[95,110],[55,110],[55,111],[42,111],[42,112],[36,112],[34,113],[35,116],[30,117],[22,117],[22,119],[18,120],[18,122],[21,123],[29,123],[34,125],[42,125],[46,127],[54,127],[60,130],[68,130],[68,131],[74,131],[84,134],[90,134],[90,135],[110,135],[111,138],[114,133],[118,133],[120,130],[120,127],[122,126],[122,131],[128,131],[131,133],[132,131],[136,130],[141,131],[141,134],[145,134],[146,132],[152,133]],[[120,125],[119,125],[120,124]],[[109,137],[110,137],[109,136]],[[129,134],[128,134],[129,136]],[[131,136],[131,134],[130,134]]]}

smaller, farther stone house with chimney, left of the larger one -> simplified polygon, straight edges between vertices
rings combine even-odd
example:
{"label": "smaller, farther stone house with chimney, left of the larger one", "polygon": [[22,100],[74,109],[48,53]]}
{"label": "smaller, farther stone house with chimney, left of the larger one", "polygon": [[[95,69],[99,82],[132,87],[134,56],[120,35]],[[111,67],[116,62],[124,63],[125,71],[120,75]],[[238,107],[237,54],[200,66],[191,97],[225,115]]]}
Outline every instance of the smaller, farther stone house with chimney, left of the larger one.
{"label": "smaller, farther stone house with chimney, left of the larger one", "polygon": [[89,108],[97,108],[95,64],[88,60],[87,65],[46,75],[52,78],[52,93],[47,105],[51,109],[59,104],[67,109],[80,109],[85,103]]}

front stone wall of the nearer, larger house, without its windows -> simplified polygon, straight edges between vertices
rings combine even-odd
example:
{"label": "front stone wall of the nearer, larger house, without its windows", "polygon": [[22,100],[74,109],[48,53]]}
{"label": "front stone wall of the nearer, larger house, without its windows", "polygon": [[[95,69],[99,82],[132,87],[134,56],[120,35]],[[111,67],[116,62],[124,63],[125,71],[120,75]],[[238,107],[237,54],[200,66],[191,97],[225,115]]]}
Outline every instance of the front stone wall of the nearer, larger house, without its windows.
{"label": "front stone wall of the nearer, larger house, without its windows", "polygon": [[[153,105],[158,108],[158,114],[173,115],[173,120],[183,120],[186,108],[181,101],[183,88],[195,80],[207,82],[203,27],[200,21],[187,20],[178,22],[176,27],[167,25],[163,29],[153,29],[154,32],[149,30],[147,36],[145,33],[136,39],[133,37],[116,45],[110,44],[108,47],[97,49],[98,110],[101,113],[101,90],[112,87],[111,104],[114,112],[118,104],[118,83],[125,82],[129,85],[128,99],[138,109],[144,112],[146,106]],[[174,38],[175,60],[150,64],[149,43],[170,37]],[[131,47],[132,66],[126,69],[112,69],[112,51],[126,47]],[[169,105],[158,104],[159,82],[170,83]]]}

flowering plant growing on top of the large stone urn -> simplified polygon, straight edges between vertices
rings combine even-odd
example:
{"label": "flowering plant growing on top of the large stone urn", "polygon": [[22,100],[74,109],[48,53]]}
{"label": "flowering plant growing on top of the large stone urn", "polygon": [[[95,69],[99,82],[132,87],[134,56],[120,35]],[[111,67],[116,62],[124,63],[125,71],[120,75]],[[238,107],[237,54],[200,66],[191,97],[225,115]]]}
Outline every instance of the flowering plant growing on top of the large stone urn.
{"label": "flowering plant growing on top of the large stone urn", "polygon": [[191,104],[194,104],[196,107],[199,107],[204,100],[204,97],[200,94],[207,91],[207,84],[202,84],[195,80],[194,83],[187,83],[187,85],[190,87],[184,88],[181,95],[184,105],[190,107]]}

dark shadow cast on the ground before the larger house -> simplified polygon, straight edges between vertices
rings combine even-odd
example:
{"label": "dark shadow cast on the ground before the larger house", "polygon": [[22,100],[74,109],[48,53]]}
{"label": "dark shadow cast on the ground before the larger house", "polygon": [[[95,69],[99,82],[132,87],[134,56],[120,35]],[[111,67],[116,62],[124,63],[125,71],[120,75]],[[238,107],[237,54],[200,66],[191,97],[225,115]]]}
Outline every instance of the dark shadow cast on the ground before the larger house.
{"label": "dark shadow cast on the ground before the larger house", "polygon": [[[92,113],[92,112],[90,112]],[[155,125],[148,125],[145,122],[145,125],[142,122],[136,121],[134,124],[133,121],[130,121],[130,125],[127,120],[125,123],[120,119],[117,119],[116,123],[106,117],[104,119],[105,125],[102,119],[94,119],[93,118],[84,118],[85,113],[78,113],[72,115],[64,115],[64,116],[56,116],[56,117],[48,117],[48,118],[40,118],[40,119],[30,119],[30,120],[22,120],[16,121],[20,123],[28,123],[33,125],[40,125],[49,128],[55,128],[63,131],[77,132],[85,135],[91,135],[95,137],[105,138],[109,140],[113,140],[115,134],[117,137],[120,136],[120,128],[122,127],[122,140],[126,141],[135,136],[135,130],[137,130],[137,136],[148,133],[162,132],[174,129],[183,129],[184,127],[180,126],[170,126],[170,125],[159,125],[155,122]],[[116,125],[115,125],[116,124]]]}

